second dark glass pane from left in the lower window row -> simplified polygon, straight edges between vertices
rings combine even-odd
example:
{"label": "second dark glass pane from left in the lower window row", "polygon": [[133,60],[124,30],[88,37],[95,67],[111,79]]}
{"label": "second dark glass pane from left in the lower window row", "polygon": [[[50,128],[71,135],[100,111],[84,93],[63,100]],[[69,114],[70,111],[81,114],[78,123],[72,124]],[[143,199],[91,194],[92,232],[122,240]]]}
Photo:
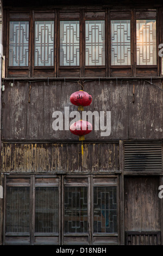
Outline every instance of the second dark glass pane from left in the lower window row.
{"label": "second dark glass pane from left in the lower window row", "polygon": [[35,232],[58,233],[58,187],[36,187]]}

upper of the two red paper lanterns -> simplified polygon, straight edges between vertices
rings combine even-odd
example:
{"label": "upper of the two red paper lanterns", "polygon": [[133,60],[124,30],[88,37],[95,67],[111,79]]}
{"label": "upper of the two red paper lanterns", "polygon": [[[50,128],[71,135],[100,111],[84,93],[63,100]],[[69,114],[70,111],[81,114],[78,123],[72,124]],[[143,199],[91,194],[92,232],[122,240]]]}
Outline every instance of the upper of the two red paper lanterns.
{"label": "upper of the two red paper lanterns", "polygon": [[70,101],[73,105],[79,106],[79,110],[83,110],[83,107],[91,104],[92,96],[83,90],[79,90],[78,92],[71,94]]}

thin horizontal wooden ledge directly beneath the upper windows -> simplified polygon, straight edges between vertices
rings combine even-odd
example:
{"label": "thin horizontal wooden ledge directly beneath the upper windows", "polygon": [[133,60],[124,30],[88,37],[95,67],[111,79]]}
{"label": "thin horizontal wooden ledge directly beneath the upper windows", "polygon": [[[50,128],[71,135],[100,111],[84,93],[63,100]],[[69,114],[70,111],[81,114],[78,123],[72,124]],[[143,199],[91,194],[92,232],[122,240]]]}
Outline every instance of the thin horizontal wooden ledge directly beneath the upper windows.
{"label": "thin horizontal wooden ledge directly beneath the upper windows", "polygon": [[160,80],[163,79],[163,76],[98,76],[98,77],[5,77],[2,78],[2,81],[79,81],[79,80]]}

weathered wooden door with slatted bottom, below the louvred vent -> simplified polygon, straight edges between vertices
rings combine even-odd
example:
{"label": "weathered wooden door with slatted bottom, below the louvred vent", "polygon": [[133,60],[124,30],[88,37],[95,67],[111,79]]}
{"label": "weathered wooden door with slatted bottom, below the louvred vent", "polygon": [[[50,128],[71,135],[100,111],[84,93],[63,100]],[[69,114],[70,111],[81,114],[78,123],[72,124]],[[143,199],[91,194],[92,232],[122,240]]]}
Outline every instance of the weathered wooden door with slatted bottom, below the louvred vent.
{"label": "weathered wooden door with slatted bottom, below the louvred vent", "polygon": [[126,176],[124,228],[127,245],[160,244],[159,176]]}

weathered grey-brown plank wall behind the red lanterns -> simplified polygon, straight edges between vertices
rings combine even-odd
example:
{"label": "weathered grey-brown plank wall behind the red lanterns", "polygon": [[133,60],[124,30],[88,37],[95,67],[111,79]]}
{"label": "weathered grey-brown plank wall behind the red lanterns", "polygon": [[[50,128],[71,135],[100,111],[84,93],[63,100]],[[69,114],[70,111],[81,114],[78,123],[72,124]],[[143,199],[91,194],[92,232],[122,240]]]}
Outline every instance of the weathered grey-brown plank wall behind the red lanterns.
{"label": "weathered grey-brown plank wall behind the red lanterns", "polygon": [[[70,95],[81,89],[77,82],[15,81],[14,87],[4,81],[2,96],[2,139],[5,140],[77,140],[68,131],[54,131],[54,111],[64,115],[65,107],[78,111],[70,102]],[[111,111],[111,134],[101,137],[101,130],[93,130],[87,140],[161,139],[163,136],[163,93],[160,80],[149,84],[139,81],[85,82],[84,90],[92,95],[92,103],[85,111]],[[29,86],[31,90],[29,93]],[[134,93],[134,95],[133,95]],[[30,103],[29,103],[30,99]],[[70,121],[73,118],[70,118]]]}

